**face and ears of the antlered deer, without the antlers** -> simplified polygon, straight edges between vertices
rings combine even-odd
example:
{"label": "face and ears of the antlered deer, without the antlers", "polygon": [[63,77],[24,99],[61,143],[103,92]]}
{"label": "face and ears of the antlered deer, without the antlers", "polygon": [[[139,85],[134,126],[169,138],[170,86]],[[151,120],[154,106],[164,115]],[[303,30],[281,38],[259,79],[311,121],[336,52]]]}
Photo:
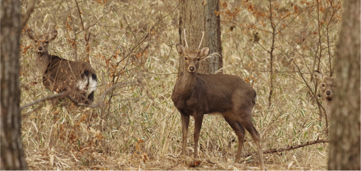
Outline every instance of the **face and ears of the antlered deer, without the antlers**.
{"label": "face and ears of the antlered deer, without the antlers", "polygon": [[208,55],[209,48],[205,47],[201,50],[190,51],[182,45],[177,45],[178,54],[183,57],[184,69],[189,73],[196,73],[199,62]]}

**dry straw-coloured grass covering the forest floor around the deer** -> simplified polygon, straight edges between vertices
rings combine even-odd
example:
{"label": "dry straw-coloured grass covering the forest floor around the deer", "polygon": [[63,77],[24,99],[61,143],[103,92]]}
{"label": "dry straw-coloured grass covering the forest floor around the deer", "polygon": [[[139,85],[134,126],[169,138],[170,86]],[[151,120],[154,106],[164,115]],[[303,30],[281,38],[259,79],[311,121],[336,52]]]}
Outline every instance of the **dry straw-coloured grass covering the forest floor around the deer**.
{"label": "dry straw-coloured grass covering the forest floor around the deer", "polygon": [[[48,32],[52,28],[58,31],[57,39],[50,44],[50,53],[70,60],[75,60],[75,52],[79,59],[86,56],[86,43],[82,33],[76,35],[77,48],[69,41],[74,40],[75,33],[81,31],[75,2],[39,3],[39,8],[35,9],[29,20],[29,27],[36,32]],[[258,170],[258,155],[248,133],[241,155],[244,161],[234,163],[237,137],[222,116],[218,115],[205,115],[203,120],[199,157],[204,162],[198,167],[188,167],[180,161],[181,118],[170,99],[179,63],[175,49],[175,45],[179,43],[178,11],[173,11],[178,5],[177,2],[129,0],[103,3],[101,0],[79,3],[85,28],[106,14],[96,26],[90,28],[90,63],[97,71],[99,84],[95,102],[98,102],[101,94],[115,82],[139,78],[143,78],[143,81],[137,85],[116,88],[106,97],[105,105],[97,108],[77,107],[63,99],[46,101],[24,109],[22,114],[29,114],[23,119],[22,128],[29,169],[164,170],[174,166],[171,169]],[[317,138],[327,138],[323,133],[324,120],[317,114],[317,104],[309,96],[308,88],[297,74],[296,67],[289,63],[289,56],[282,55],[282,52],[291,51],[293,45],[296,47],[295,42],[290,45],[286,40],[304,30],[304,22],[308,22],[311,27],[310,24],[314,21],[303,18],[303,23],[294,22],[292,27],[283,31],[283,34],[287,35],[285,39],[277,37],[279,47],[275,52],[275,71],[287,72],[276,72],[272,105],[268,108],[269,55],[260,45],[269,48],[270,35],[261,33],[260,45],[253,45],[250,41],[253,29],[236,27],[231,31],[229,27],[234,24],[241,26],[244,21],[259,21],[237,3],[229,2],[227,7],[234,11],[237,5],[240,6],[237,23],[222,23],[223,69],[226,74],[250,80],[257,92],[253,123],[261,133],[262,148],[281,148]],[[266,7],[267,2],[262,3],[257,6]],[[24,13],[29,4],[23,2]],[[287,4],[284,6],[292,8]],[[119,7],[123,8],[109,12]],[[225,11],[224,8],[221,9]],[[74,23],[68,18],[69,14],[72,15]],[[304,15],[307,17],[307,14]],[[158,22],[160,18],[163,19]],[[72,30],[69,30],[69,27],[67,29],[67,23]],[[266,21],[264,23],[267,24]],[[155,28],[149,32],[154,25]],[[257,26],[260,28],[261,25],[259,23]],[[329,33],[332,38],[329,44],[334,45],[338,24],[331,26],[333,30]],[[137,44],[148,33],[151,36],[145,42]],[[309,46],[317,46],[317,36],[307,39]],[[323,42],[326,39],[322,37]],[[54,93],[45,90],[40,82],[42,76],[35,67],[35,53],[32,48],[25,50],[31,46],[25,33],[21,43],[21,105],[25,105]],[[311,43],[315,45],[310,45]],[[136,45],[139,45],[139,48],[132,50]],[[147,53],[138,56],[139,58],[124,55],[137,55],[144,49]],[[302,53],[310,52],[316,54],[319,51],[305,49]],[[322,53],[326,55],[328,52]],[[310,81],[311,74],[307,71],[307,64],[312,64],[313,57],[304,62],[299,55],[291,55],[314,90],[314,84]],[[321,60],[325,67],[327,60],[326,57]],[[114,76],[117,72],[121,74]],[[93,118],[90,127],[87,127],[84,116],[89,113],[93,113]],[[188,156],[191,156],[194,150],[193,130],[194,120],[191,118]],[[325,170],[327,151],[328,144],[315,144],[281,153],[264,154],[265,165],[270,170]]]}

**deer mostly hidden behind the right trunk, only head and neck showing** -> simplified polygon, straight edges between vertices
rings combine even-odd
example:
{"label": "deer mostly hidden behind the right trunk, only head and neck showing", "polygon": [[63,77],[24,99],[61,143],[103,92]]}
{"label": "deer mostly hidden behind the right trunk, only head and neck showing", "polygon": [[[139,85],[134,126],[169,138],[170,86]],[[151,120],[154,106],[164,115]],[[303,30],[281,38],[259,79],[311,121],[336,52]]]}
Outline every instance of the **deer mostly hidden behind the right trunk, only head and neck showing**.
{"label": "deer mostly hidden behind the right trunk, only head and neck showing", "polygon": [[332,77],[325,77],[319,71],[314,71],[314,76],[319,82],[319,89],[321,90],[322,95],[322,104],[327,116],[331,116],[331,105],[332,105],[332,96],[334,88],[334,79]]}

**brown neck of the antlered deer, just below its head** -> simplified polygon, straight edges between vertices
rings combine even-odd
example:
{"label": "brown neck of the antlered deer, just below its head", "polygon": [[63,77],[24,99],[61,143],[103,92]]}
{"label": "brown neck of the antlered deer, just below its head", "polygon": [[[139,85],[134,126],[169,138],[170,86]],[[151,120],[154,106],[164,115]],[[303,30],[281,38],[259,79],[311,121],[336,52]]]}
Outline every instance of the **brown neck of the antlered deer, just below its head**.
{"label": "brown neck of the antlered deer, just below its head", "polygon": [[183,97],[189,97],[196,85],[197,73],[185,71],[176,83],[177,93]]}

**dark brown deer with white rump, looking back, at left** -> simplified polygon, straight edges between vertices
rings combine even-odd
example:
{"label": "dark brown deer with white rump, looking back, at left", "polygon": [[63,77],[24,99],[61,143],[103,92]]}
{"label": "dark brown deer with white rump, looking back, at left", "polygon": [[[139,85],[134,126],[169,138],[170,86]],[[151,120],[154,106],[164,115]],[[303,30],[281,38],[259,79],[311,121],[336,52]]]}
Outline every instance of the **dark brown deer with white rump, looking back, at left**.
{"label": "dark brown deer with white rump, looking back, at left", "polygon": [[98,84],[95,70],[87,62],[69,61],[50,55],[48,46],[57,34],[57,31],[52,31],[42,35],[28,30],[29,38],[35,43],[36,64],[43,75],[43,84],[47,89],[56,92],[71,90],[75,86],[80,92],[76,93],[77,99],[90,104],[94,100]]}

